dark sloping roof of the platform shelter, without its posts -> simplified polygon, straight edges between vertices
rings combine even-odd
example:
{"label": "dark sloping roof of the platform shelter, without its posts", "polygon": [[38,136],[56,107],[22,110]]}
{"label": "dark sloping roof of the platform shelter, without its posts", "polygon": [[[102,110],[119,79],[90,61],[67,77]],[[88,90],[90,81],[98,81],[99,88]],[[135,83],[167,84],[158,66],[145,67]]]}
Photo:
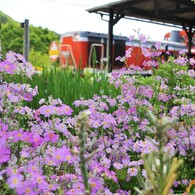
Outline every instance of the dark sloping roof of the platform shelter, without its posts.
{"label": "dark sloping roof of the platform shelter, without its posts", "polygon": [[195,4],[191,0],[120,0],[87,10],[90,13],[137,18],[195,29]]}

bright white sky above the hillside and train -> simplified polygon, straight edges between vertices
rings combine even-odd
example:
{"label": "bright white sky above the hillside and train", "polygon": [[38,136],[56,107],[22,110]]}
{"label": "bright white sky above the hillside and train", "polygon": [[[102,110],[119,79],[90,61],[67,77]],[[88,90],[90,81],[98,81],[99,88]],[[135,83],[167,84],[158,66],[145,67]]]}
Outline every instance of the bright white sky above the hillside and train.
{"label": "bright white sky above the hillside and train", "polygon": [[[99,14],[86,11],[116,0],[0,0],[0,10],[18,22],[29,20],[30,25],[48,28],[59,34],[71,31],[108,32],[108,22]],[[135,31],[156,41],[173,27],[121,19],[113,29],[115,35],[135,35]],[[178,29],[177,29],[178,30]]]}

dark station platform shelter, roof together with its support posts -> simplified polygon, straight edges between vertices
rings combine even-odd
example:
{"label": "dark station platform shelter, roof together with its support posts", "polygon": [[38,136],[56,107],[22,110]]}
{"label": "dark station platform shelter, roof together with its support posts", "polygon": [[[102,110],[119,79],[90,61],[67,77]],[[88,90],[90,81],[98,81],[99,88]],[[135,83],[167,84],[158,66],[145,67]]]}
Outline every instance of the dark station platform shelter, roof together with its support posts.
{"label": "dark station platform shelter, roof together with its support posts", "polygon": [[120,0],[87,11],[100,14],[101,17],[109,16],[109,72],[112,71],[113,60],[113,27],[121,18],[183,28],[188,36],[188,55],[191,56],[192,37],[195,33],[195,4],[191,0]]}

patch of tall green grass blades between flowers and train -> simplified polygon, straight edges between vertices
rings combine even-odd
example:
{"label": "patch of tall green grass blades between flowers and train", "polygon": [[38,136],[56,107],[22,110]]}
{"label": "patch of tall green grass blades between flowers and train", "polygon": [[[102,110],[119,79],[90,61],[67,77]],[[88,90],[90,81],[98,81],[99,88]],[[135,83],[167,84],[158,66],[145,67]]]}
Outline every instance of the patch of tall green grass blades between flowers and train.
{"label": "patch of tall green grass blades between flowers and train", "polygon": [[79,108],[73,106],[73,102],[78,99],[90,99],[95,94],[116,97],[119,91],[113,87],[107,79],[105,73],[92,73],[83,76],[80,71],[69,69],[43,69],[42,74],[35,74],[32,80],[14,76],[9,78],[9,82],[28,83],[32,87],[38,86],[39,94],[33,98],[32,102],[27,102],[27,106],[38,108],[41,98],[48,99],[48,96],[60,98],[63,103],[71,106],[78,114]]}

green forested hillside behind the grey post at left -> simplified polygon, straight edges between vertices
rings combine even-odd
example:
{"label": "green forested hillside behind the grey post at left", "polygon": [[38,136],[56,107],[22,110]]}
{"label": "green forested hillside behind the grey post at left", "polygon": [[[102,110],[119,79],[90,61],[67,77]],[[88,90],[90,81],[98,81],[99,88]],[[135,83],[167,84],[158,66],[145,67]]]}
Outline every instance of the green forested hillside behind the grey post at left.
{"label": "green forested hillside behind the grey post at left", "polygon": [[[30,21],[29,21],[30,23]],[[23,53],[23,32],[20,23],[0,11],[0,38],[3,56],[9,51]],[[30,56],[31,63],[41,66],[48,59],[48,50],[52,41],[58,41],[59,35],[47,28],[30,24]],[[40,59],[42,57],[42,60]]]}

